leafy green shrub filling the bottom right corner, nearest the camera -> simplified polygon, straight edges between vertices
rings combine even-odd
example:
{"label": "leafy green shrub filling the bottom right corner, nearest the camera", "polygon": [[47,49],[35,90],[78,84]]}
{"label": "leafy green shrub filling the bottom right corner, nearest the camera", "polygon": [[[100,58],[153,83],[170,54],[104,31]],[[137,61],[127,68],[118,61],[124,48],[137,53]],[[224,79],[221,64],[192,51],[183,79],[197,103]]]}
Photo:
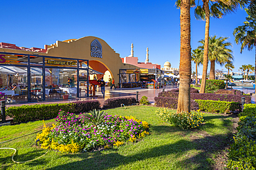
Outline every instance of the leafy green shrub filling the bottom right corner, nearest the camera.
{"label": "leafy green shrub filling the bottom right corner, nearest the camera", "polygon": [[228,153],[228,169],[255,169],[256,142],[246,136],[234,137]]}

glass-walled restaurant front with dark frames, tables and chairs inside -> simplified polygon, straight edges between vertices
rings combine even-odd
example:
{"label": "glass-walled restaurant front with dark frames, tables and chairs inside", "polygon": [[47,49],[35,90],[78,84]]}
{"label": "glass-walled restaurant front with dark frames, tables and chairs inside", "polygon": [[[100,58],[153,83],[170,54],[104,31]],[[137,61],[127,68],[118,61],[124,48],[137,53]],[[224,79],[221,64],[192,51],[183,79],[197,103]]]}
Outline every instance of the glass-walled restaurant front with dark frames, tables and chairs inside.
{"label": "glass-walled restaurant front with dark frames, tables and chairs inside", "polygon": [[0,92],[7,103],[88,97],[88,65],[88,60],[0,52]]}

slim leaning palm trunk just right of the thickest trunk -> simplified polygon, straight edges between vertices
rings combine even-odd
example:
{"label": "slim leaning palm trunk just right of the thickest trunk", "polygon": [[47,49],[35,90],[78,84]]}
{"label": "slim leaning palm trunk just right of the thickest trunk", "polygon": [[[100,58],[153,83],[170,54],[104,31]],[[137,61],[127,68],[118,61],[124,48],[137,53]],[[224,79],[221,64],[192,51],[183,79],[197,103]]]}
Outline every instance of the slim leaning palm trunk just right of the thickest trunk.
{"label": "slim leaning palm trunk just right of the thickest trunk", "polygon": [[209,43],[209,29],[210,29],[210,12],[209,12],[209,0],[203,1],[205,8],[205,36],[204,36],[204,51],[203,51],[203,75],[200,87],[200,93],[205,92],[206,74],[208,67],[208,43]]}

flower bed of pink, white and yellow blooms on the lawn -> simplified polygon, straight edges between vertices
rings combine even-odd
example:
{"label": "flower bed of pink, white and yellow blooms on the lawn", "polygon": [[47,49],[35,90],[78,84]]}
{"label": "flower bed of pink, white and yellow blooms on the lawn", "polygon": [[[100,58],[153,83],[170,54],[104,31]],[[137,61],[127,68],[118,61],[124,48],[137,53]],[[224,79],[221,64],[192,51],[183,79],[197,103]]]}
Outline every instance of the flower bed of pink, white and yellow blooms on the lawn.
{"label": "flower bed of pink, white and yellow blooms on the lawn", "polygon": [[91,151],[96,147],[105,149],[114,145],[119,146],[129,140],[136,142],[138,138],[149,135],[149,124],[134,117],[112,116],[100,113],[102,123],[95,125],[86,115],[65,113],[60,111],[56,124],[46,127],[41,134],[37,134],[43,149],[55,149],[62,152],[76,153]]}

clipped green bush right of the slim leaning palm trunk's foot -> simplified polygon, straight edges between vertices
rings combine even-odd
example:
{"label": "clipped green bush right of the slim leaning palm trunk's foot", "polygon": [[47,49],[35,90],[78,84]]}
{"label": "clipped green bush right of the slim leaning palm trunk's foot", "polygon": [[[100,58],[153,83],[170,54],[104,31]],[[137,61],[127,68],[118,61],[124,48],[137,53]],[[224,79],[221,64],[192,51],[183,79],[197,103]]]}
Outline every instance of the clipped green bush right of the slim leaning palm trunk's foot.
{"label": "clipped green bush right of the slim leaning palm trunk's foot", "polygon": [[[201,84],[201,81],[200,81]],[[205,83],[205,93],[214,93],[218,89],[224,89],[225,83],[221,80],[206,80]]]}

